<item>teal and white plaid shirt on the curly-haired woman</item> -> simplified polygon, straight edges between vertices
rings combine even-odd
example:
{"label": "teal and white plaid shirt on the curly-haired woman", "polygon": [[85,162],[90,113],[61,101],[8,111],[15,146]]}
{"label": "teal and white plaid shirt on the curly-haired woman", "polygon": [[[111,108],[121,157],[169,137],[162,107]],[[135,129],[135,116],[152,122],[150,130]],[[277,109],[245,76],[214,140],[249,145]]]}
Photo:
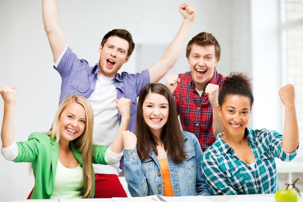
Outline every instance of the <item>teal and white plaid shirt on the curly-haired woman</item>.
{"label": "teal and white plaid shirt on the curly-haired woman", "polygon": [[278,190],[274,158],[291,161],[298,152],[282,150],[282,134],[277,131],[246,128],[248,144],[255,155],[254,168],[234,154],[218,134],[202,155],[202,173],[212,195],[269,194]]}

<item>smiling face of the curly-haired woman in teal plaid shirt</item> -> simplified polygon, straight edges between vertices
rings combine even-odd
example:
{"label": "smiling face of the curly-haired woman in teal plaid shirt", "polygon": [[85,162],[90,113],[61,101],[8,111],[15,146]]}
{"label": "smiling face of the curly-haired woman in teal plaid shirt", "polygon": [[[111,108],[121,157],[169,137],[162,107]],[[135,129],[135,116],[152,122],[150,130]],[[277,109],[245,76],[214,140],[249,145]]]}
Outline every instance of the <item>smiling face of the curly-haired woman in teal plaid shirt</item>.
{"label": "smiling face of the curly-haired woman in teal plaid shirt", "polygon": [[249,121],[250,99],[242,95],[227,95],[222,106],[218,105],[218,114],[224,126],[224,136],[242,137]]}

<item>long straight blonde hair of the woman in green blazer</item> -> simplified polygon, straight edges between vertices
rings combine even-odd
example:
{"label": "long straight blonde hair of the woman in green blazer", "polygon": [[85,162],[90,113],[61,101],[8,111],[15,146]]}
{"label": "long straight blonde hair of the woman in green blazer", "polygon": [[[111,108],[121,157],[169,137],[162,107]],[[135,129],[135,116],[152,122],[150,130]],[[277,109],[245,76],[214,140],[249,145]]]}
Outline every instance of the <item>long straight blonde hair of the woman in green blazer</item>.
{"label": "long straight blonde hair of the woman in green blazer", "polygon": [[92,125],[93,125],[93,110],[91,103],[82,96],[69,95],[67,96],[57,109],[55,114],[54,122],[49,131],[45,132],[50,139],[56,138],[56,143],[60,140],[59,120],[63,110],[71,103],[78,103],[85,109],[86,113],[86,127],[82,135],[77,139],[73,140],[76,149],[82,155],[83,161],[83,176],[84,176],[84,187],[82,188],[82,198],[91,198],[92,195]]}

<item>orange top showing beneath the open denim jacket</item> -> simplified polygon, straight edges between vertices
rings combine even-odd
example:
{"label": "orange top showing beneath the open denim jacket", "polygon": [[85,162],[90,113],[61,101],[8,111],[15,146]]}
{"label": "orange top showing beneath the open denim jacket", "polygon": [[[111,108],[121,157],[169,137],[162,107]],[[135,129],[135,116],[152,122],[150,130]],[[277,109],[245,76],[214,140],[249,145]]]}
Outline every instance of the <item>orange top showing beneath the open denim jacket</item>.
{"label": "orange top showing beneath the open denim jacket", "polygon": [[163,181],[163,196],[174,196],[167,159],[159,159],[159,163]]}

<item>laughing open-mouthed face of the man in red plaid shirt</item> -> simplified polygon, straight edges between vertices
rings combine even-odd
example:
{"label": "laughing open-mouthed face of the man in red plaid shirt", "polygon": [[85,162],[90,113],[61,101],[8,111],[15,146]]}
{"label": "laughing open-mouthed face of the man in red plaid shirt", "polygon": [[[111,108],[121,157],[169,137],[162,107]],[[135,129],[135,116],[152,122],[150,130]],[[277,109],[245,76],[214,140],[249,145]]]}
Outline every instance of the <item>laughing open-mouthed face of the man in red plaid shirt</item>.
{"label": "laughing open-mouthed face of the man in red plaid shirt", "polygon": [[198,46],[193,44],[187,58],[195,87],[203,91],[212,79],[217,66],[214,46]]}

